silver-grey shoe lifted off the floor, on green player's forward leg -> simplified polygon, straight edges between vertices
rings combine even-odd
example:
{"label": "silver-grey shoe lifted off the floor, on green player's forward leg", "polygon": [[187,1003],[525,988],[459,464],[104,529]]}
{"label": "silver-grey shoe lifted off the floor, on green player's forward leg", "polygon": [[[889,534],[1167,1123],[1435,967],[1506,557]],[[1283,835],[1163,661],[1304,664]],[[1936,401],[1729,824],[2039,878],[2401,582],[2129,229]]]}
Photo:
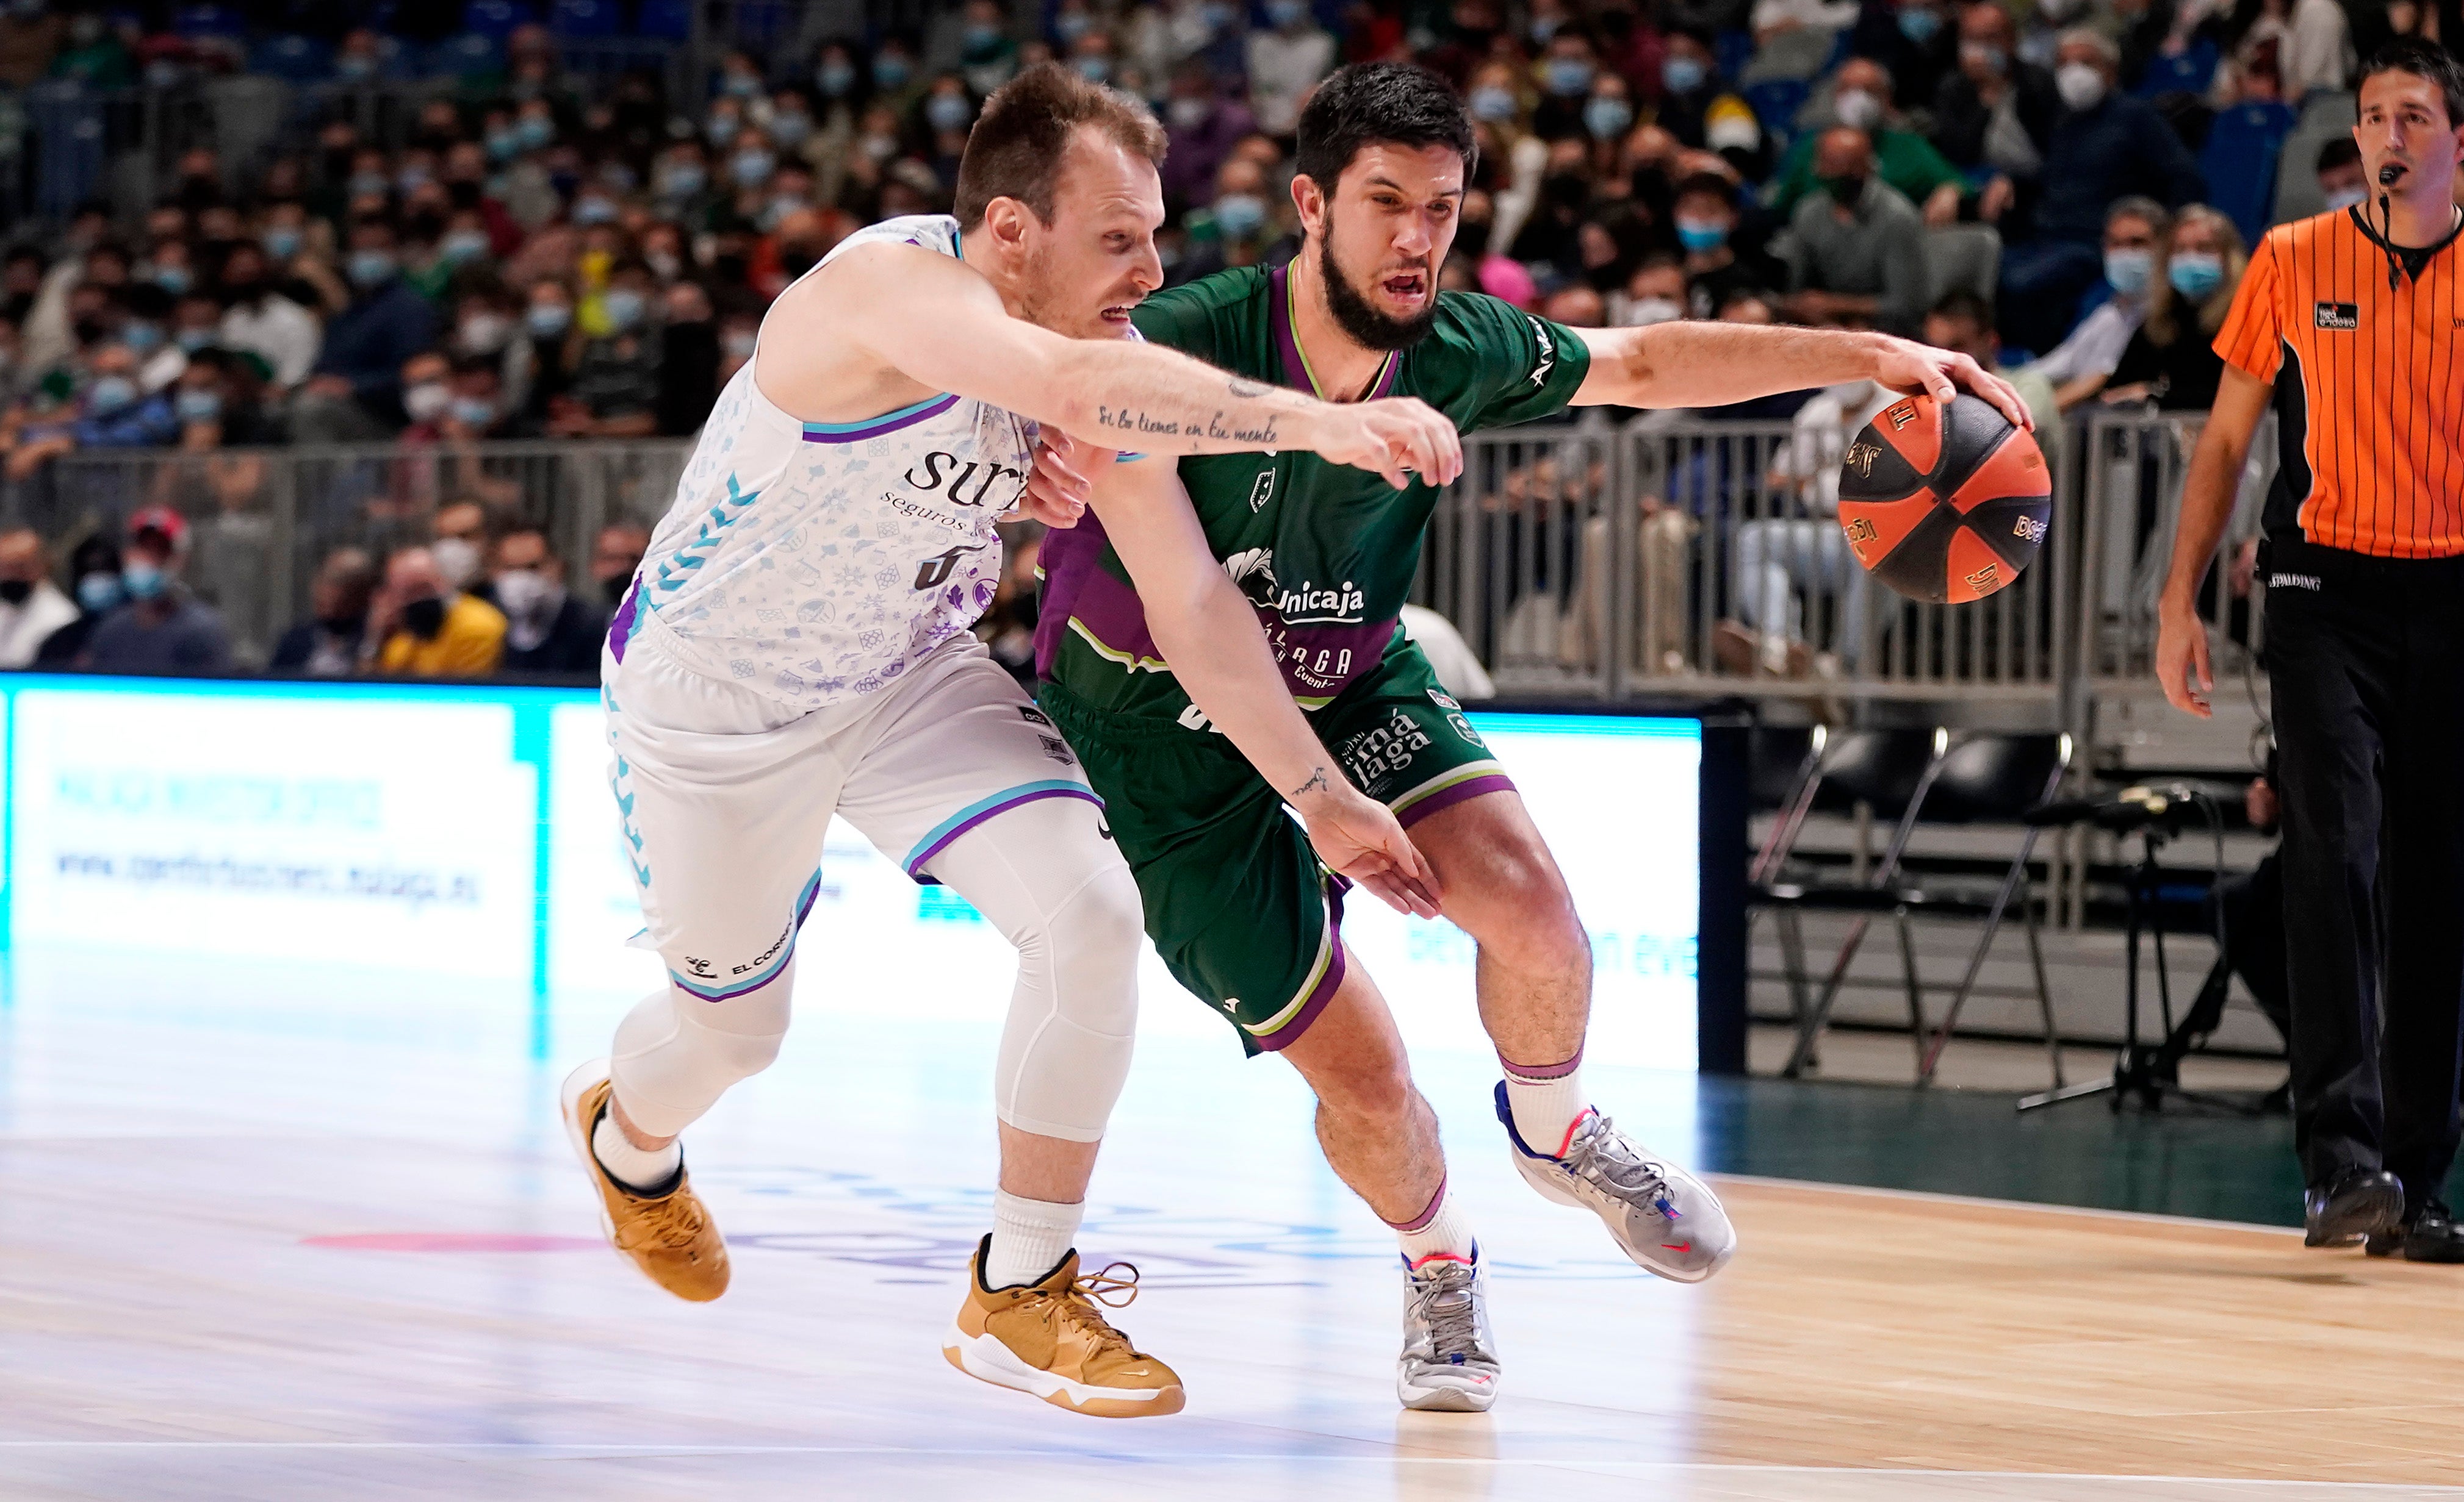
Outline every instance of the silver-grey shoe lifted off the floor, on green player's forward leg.
{"label": "silver-grey shoe lifted off the floor, on green player's forward leg", "polygon": [[1506,1103],[1506,1081],[1498,1081],[1498,1120],[1515,1145],[1523,1182],[1557,1204],[1597,1214],[1646,1273],[1700,1283],[1737,1256],[1737,1229],[1710,1184],[1629,1143],[1607,1115],[1584,1110],[1567,1135],[1565,1157],[1535,1152],[1523,1140]]}

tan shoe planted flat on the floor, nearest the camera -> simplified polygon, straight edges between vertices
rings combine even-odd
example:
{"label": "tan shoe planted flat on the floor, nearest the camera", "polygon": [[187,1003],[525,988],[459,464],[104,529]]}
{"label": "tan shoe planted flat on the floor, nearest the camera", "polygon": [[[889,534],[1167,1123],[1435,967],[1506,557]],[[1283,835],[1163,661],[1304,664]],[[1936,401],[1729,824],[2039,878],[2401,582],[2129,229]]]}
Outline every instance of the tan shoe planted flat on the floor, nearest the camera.
{"label": "tan shoe planted flat on the floor, nearest the camera", "polygon": [[[1111,1263],[1079,1278],[1072,1251],[1042,1283],[993,1290],[983,1285],[991,1248],[986,1236],[966,1261],[966,1303],[941,1339],[951,1367],[1094,1418],[1180,1413],[1180,1374],[1131,1349],[1104,1320],[1106,1307],[1138,1298],[1138,1268]],[[1114,1268],[1129,1268],[1129,1278],[1114,1278]]]}

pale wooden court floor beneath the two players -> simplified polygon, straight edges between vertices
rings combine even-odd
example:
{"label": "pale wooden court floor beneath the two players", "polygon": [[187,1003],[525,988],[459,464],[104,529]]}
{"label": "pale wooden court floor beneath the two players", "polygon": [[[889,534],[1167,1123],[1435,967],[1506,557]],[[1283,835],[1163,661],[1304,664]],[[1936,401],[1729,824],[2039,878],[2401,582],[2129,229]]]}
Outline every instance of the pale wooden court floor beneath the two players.
{"label": "pale wooden court floor beneath the two players", "polygon": [[[574,1037],[604,1024],[579,1019]],[[798,1042],[801,1039],[801,1042]],[[2464,1480],[2464,1271],[2282,1229],[1725,1179],[1740,1258],[1648,1280],[1538,1202],[1427,1059],[1506,1396],[1392,1404],[1392,1243],[1284,1071],[1148,1046],[1082,1243],[1188,1413],[951,1371],[983,1059],[798,1019],[687,1138],[717,1305],[594,1243],[554,1039],[473,1002],[0,1012],[0,1497],[2410,1497]],[[988,1049],[986,1049],[988,1051]],[[1671,1152],[1685,1076],[1594,1081]],[[1804,1128],[1816,1130],[1816,1128]],[[1959,1155],[1944,1133],[1929,1147]]]}

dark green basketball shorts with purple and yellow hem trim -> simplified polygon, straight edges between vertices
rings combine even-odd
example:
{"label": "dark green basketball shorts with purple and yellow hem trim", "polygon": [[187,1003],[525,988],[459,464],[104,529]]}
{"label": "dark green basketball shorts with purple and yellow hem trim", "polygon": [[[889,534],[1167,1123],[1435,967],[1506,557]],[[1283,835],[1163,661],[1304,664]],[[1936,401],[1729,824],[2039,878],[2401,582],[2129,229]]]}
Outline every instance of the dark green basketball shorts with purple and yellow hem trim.
{"label": "dark green basketball shorts with purple and yellow hem trim", "polygon": [[[1343,877],[1222,731],[1099,709],[1060,682],[1037,694],[1069,736],[1138,877],[1146,933],[1249,1054],[1289,1046],[1343,985]],[[1308,721],[1343,773],[1412,827],[1441,808],[1513,788],[1429,670],[1400,638],[1385,660]]]}

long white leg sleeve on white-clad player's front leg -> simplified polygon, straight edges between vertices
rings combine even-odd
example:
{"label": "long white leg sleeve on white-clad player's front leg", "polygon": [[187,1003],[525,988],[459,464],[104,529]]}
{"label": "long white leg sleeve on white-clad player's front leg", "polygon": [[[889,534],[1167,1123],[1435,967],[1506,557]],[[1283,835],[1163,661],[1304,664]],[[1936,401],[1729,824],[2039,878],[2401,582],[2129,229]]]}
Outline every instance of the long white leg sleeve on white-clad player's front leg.
{"label": "long white leg sleeve on white-clad player's front leg", "polygon": [[931,859],[931,874],[1018,946],[993,1108],[1023,1133],[1069,1143],[1104,1138],[1138,1032],[1146,918],[1096,817],[1084,798],[1023,803]]}

